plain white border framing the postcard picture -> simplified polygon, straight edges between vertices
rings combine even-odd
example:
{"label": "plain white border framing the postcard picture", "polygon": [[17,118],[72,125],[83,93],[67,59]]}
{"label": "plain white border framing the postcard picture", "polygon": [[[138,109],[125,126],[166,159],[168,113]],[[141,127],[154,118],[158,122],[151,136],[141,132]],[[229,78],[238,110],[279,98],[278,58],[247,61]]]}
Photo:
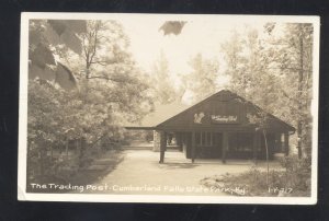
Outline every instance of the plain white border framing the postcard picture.
{"label": "plain white border framing the postcard picture", "polygon": [[[31,194],[26,193],[26,139],[27,139],[27,56],[29,20],[70,19],[70,20],[203,20],[229,19],[237,22],[292,22],[314,24],[313,50],[313,149],[311,149],[311,196],[310,197],[231,197],[231,196],[158,196],[158,195],[107,195],[107,194]],[[18,199],[35,201],[89,201],[89,202],[174,202],[174,203],[260,203],[260,205],[315,205],[318,189],[318,97],[319,97],[319,16],[299,15],[211,15],[211,14],[105,14],[105,13],[43,13],[23,12],[21,14],[20,54],[20,109],[19,109],[19,171]]]}

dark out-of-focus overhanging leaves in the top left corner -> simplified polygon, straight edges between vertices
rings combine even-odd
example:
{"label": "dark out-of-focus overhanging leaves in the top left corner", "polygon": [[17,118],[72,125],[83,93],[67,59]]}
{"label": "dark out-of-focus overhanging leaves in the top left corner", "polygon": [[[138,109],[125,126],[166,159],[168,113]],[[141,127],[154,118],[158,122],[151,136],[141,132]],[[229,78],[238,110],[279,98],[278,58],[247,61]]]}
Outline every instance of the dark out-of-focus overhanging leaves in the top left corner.
{"label": "dark out-of-focus overhanging leaves in the top left corner", "polygon": [[32,20],[29,24],[29,78],[39,78],[59,83],[63,88],[76,86],[71,71],[55,59],[54,47],[70,48],[81,53],[78,35],[86,32],[84,21]]}

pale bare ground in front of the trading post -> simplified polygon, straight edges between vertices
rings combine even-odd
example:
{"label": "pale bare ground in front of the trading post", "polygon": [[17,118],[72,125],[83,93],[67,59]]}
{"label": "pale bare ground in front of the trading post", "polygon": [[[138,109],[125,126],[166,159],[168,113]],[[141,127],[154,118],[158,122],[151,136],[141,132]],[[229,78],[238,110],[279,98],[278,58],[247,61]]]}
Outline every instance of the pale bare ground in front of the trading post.
{"label": "pale bare ground in front of the trading post", "polygon": [[[159,164],[159,152],[150,150],[124,150],[124,159],[109,174],[91,184],[97,190],[86,193],[102,194],[143,194],[143,195],[227,195],[223,191],[205,189],[200,181],[220,174],[236,174],[250,170],[251,161],[197,160],[192,164],[182,152],[168,150],[164,163]],[[103,159],[106,162],[106,159]],[[259,162],[260,168],[265,167]],[[271,162],[271,168],[279,167]],[[234,188],[234,187],[232,187]],[[76,191],[79,193],[79,191]]]}

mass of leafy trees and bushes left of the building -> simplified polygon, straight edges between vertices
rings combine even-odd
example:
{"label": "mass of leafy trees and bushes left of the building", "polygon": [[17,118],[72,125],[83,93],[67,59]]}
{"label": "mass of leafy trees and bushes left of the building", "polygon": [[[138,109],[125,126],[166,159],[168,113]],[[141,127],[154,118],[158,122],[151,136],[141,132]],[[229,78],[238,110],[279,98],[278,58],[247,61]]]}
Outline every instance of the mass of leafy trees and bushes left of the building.
{"label": "mass of leafy trees and bushes left of the building", "polygon": [[[56,70],[55,77],[45,78],[30,69],[30,181],[64,171],[69,176],[88,166],[99,148],[117,148],[123,125],[138,121],[152,108],[146,74],[129,55],[121,25],[88,21],[83,32],[70,25],[70,21],[30,24],[31,32],[39,28],[48,37],[42,42],[44,56],[31,49],[32,67]],[[58,81],[58,75],[65,78]],[[64,86],[68,80],[75,82],[75,90]]]}

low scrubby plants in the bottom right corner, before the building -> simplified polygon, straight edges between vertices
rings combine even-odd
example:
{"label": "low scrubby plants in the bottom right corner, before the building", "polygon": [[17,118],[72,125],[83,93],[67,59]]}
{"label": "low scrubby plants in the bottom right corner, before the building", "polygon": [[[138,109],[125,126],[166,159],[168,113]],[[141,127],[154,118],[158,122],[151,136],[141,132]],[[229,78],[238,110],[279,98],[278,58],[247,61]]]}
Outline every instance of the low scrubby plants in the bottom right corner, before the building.
{"label": "low scrubby plants in the bottom right corner, before the building", "polygon": [[291,158],[290,168],[271,170],[268,173],[253,166],[240,174],[224,174],[206,177],[201,183],[208,188],[239,188],[245,189],[243,196],[277,196],[277,197],[305,197],[310,195],[310,171],[305,171],[306,161],[297,156]]}

